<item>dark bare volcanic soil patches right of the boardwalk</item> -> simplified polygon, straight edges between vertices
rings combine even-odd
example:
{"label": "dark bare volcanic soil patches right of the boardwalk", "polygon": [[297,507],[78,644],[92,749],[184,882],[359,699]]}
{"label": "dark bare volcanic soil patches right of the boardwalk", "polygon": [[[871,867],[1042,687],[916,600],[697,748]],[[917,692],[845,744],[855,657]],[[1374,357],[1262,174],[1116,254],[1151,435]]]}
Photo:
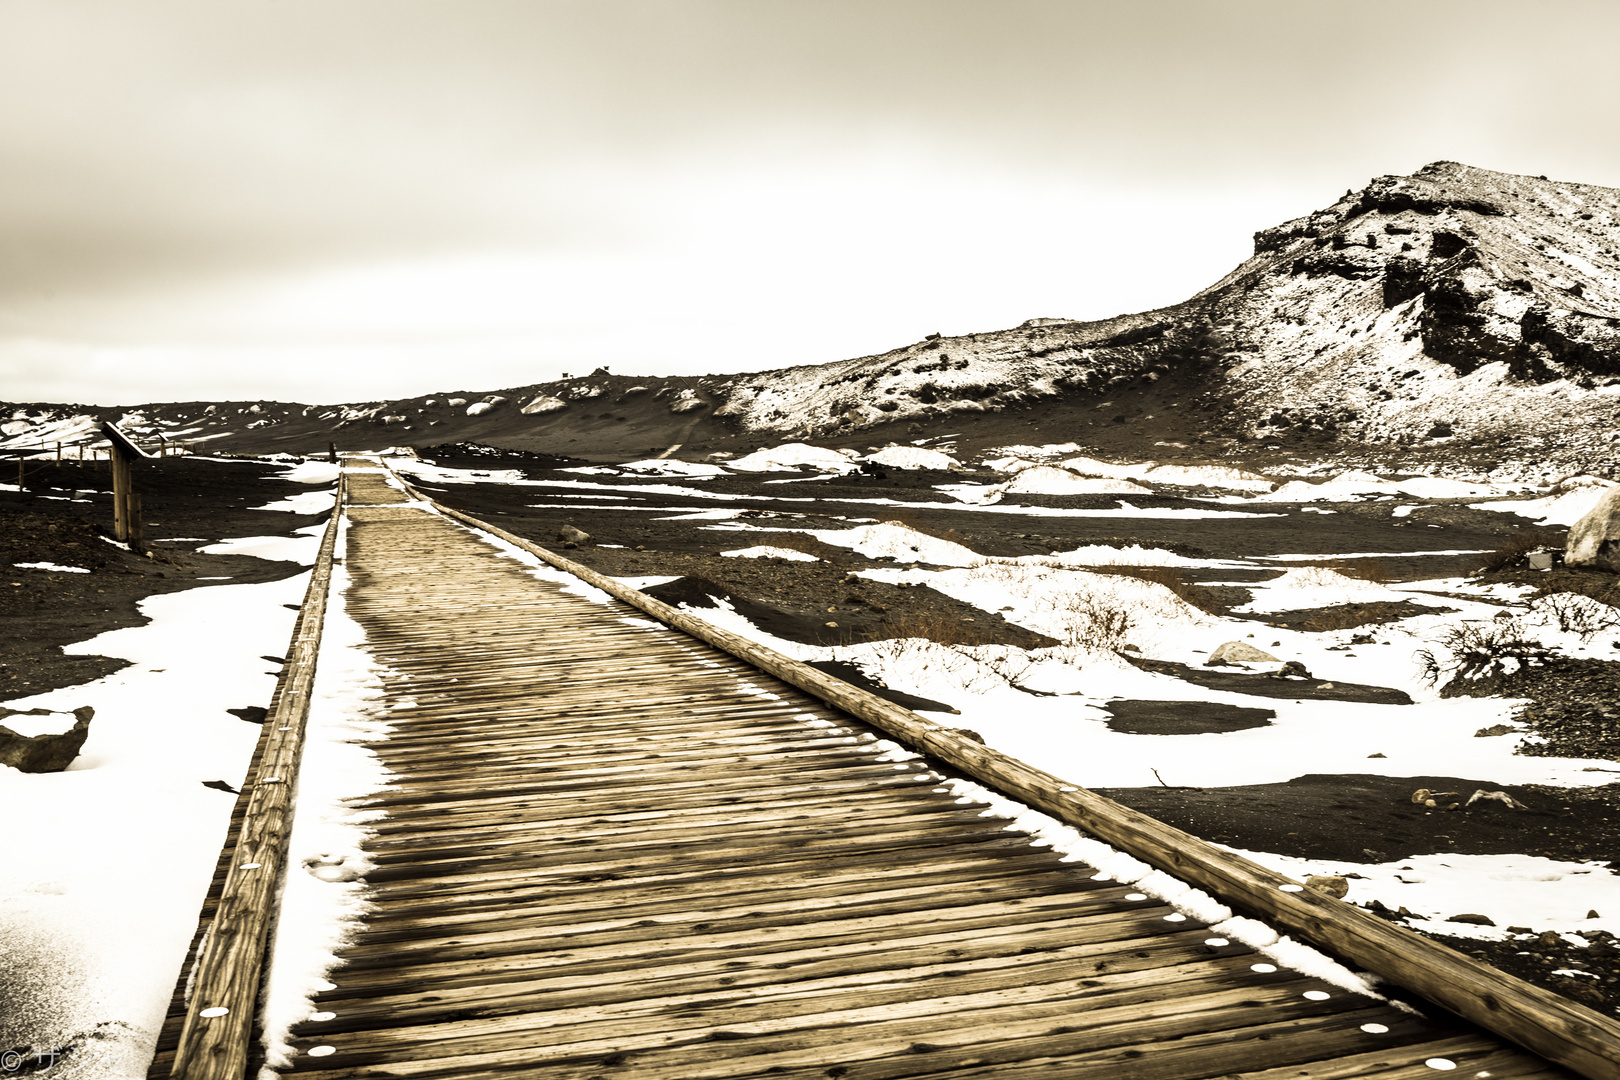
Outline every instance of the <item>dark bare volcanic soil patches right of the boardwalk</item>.
{"label": "dark bare volcanic soil patches right of the boardwalk", "polygon": [[[476,458],[447,453],[439,463],[478,468]],[[518,465],[502,461],[504,468]],[[739,521],[771,528],[844,528],[850,518],[899,520],[912,528],[956,541],[985,555],[1047,554],[1082,544],[1144,544],[1178,551],[1186,555],[1264,555],[1320,554],[1324,565],[1375,580],[1416,580],[1468,575],[1489,555],[1422,555],[1424,551],[1490,552],[1513,542],[1529,525],[1511,515],[1471,510],[1460,504],[1430,504],[1403,518],[1392,513],[1393,504],[1336,504],[1336,513],[1286,513],[1285,517],[1230,517],[1204,520],[1176,518],[1079,518],[1048,517],[1043,508],[1115,507],[1108,497],[1027,497],[1034,512],[1016,505],[1000,505],[995,513],[962,512],[943,504],[933,491],[936,484],[990,483],[990,474],[972,473],[906,473],[889,470],[883,479],[847,476],[838,479],[805,478],[802,483],[763,484],[763,478],[726,478],[692,481],[680,478],[612,479],[611,486],[585,487],[604,478],[554,471],[551,461],[525,468],[530,479],[569,481],[564,486],[496,487],[431,484],[433,495],[449,505],[499,523],[543,546],[562,551],[614,576],[676,576],[651,589],[667,601],[706,602],[724,596],[757,625],[782,638],[834,644],[862,638],[906,636],[925,633],[936,640],[964,643],[1003,641],[1029,644],[1029,631],[1000,619],[987,617],[959,601],[928,588],[894,588],[850,576],[850,570],[873,562],[849,549],[833,547],[792,533],[727,533],[718,531],[713,517],[697,517],[695,508],[740,508]],[[680,491],[672,491],[680,489]],[[603,495],[617,499],[603,499]],[[1131,505],[1204,505],[1176,499],[1132,497]],[[640,512],[638,512],[640,510]],[[1281,513],[1281,510],[1280,510]],[[557,531],[567,525],[585,529],[593,542],[564,551]],[[1437,526],[1437,528],[1429,528]],[[786,559],[734,559],[719,552],[758,544],[778,544],[815,554],[821,562]],[[1377,554],[1374,559],[1340,559],[1346,554]],[[1298,565],[1298,563],[1288,563]],[[1286,565],[1280,565],[1281,573]],[[1184,572],[1181,585],[1199,588],[1197,580],[1244,580],[1238,572]],[[1264,573],[1260,576],[1265,576]],[[1179,591],[1179,588],[1178,588]],[[1183,593],[1189,602],[1210,609],[1241,604],[1243,588],[1223,586]],[[1375,644],[1380,623],[1406,617],[1405,604],[1354,604],[1336,609],[1281,612],[1257,617],[1259,625],[1294,625],[1309,630],[1366,628],[1367,644]],[[831,610],[829,610],[831,609]],[[1430,609],[1432,610],[1432,609]],[[972,622],[967,622],[972,619]],[[828,623],[836,622],[836,627]],[[927,627],[927,630],[919,630]],[[956,636],[961,635],[961,636]],[[1153,664],[1147,661],[1147,664]],[[1176,665],[1181,667],[1181,665]],[[1604,665],[1620,670],[1620,665]],[[1199,685],[1259,693],[1273,683],[1277,696],[1336,698],[1362,701],[1408,701],[1405,691],[1382,687],[1319,680],[1277,680],[1264,675],[1220,669],[1186,669],[1176,672]],[[868,687],[878,693],[886,688]],[[1558,687],[1545,683],[1539,708],[1555,708]],[[893,695],[889,695],[893,696]],[[951,703],[943,703],[951,704]],[[1116,703],[1113,725],[1119,730],[1158,727],[1173,730],[1230,730],[1264,724],[1264,711],[1197,708],[1179,703],[1179,712],[1153,709],[1153,703]],[[1533,708],[1537,708],[1533,706]],[[912,708],[928,708],[912,704]],[[1252,712],[1252,714],[1251,714]],[[1576,712],[1567,724],[1588,740],[1588,753],[1601,755],[1605,730],[1591,711]],[[1302,858],[1346,858],[1382,861],[1408,855],[1463,853],[1531,853],[1560,860],[1620,861],[1620,784],[1596,790],[1507,789],[1528,805],[1528,811],[1511,811],[1502,803],[1476,803],[1466,811],[1430,811],[1416,806],[1411,793],[1461,790],[1464,798],[1476,789],[1502,790],[1500,784],[1466,777],[1379,777],[1364,774],[1309,776],[1286,784],[1228,789],[1113,789],[1105,792],[1121,803],[1136,806],[1194,836],[1236,848],[1277,852]],[[1374,858],[1374,853],[1379,858]],[[1400,918],[1398,913],[1388,913]],[[1591,938],[1591,947],[1570,946],[1562,938],[1520,938],[1507,942],[1453,939],[1453,947],[1476,955],[1533,983],[1570,994],[1586,1004],[1620,1007],[1620,963],[1615,962],[1614,939]],[[1609,965],[1609,967],[1605,967]],[[1555,970],[1578,968],[1599,975],[1554,975]]]}

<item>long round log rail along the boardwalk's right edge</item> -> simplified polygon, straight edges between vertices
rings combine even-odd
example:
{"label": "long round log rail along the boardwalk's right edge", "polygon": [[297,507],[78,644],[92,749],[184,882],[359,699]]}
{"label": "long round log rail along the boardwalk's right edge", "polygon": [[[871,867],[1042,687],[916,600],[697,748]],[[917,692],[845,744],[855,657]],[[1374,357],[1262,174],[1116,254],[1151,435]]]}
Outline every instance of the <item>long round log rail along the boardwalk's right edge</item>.
{"label": "long round log rail along the boardwalk's right edge", "polygon": [[1477,1023],[1589,1080],[1620,1080],[1620,1022],[1455,949],[1335,900],[1144,813],[975,743],[867,690],[703,622],[533,541],[447,507],[399,478],[413,499],[878,727],[915,751],[1058,818],[1217,899]]}

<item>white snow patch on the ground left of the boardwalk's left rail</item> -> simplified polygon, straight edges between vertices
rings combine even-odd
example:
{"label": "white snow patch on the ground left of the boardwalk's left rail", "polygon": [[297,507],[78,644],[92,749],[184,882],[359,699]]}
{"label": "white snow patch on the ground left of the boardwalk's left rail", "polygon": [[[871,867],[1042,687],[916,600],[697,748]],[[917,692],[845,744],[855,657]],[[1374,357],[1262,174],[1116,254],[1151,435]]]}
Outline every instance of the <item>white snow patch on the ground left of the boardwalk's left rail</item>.
{"label": "white snow patch on the ground left of the boardwalk's left rail", "polygon": [[[313,562],[319,538],[301,546]],[[196,929],[235,795],[259,729],[227,712],[261,706],[275,687],[262,656],[287,649],[308,575],[152,596],[152,622],[70,653],[130,667],[81,687],[8,701],[15,709],[92,706],[89,738],[65,772],[0,769],[0,925],[5,981],[26,1015],[8,1036],[78,1041],[52,1075],[144,1077],[151,1048]],[[19,729],[23,717],[11,717]],[[36,717],[29,717],[36,719]],[[71,717],[37,717],[66,730]],[[18,997],[10,997],[18,1001]],[[99,1038],[84,1040],[97,1033]]]}

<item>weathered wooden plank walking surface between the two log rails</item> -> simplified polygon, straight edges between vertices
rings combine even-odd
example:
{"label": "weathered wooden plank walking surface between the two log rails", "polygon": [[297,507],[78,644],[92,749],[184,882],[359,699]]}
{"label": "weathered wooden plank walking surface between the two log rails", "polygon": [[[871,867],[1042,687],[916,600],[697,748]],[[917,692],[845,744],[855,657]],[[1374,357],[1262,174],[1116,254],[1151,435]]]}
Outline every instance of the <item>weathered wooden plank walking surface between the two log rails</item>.
{"label": "weathered wooden plank walking surface between the two log rails", "polygon": [[1212,939],[847,714],[350,483],[394,782],[356,800],[374,910],[295,1075],[1567,1075]]}

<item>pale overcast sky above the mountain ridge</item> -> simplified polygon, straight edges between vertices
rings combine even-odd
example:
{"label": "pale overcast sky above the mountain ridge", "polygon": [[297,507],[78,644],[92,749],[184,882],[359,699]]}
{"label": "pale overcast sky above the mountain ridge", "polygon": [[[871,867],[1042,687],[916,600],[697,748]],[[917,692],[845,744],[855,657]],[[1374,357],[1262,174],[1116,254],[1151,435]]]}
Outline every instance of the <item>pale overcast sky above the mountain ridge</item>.
{"label": "pale overcast sky above the mountain ridge", "polygon": [[1380,173],[1620,186],[1617,40],[1612,0],[0,0],[0,400],[1140,311]]}

